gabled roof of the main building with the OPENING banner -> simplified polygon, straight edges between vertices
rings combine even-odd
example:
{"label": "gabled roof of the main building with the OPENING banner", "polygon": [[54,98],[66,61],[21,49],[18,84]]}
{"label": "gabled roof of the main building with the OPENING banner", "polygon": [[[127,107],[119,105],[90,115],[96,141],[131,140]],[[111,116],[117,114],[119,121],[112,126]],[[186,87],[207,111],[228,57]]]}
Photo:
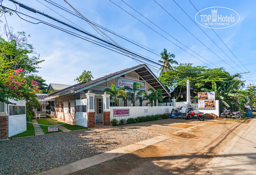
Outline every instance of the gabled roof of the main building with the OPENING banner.
{"label": "gabled roof of the main building with the OPENING banner", "polygon": [[69,86],[65,89],[62,89],[60,91],[48,94],[47,99],[51,99],[51,97],[54,96],[59,96],[61,94],[71,94],[71,93],[78,93],[81,92],[83,90],[89,89],[92,86],[98,85],[102,82],[111,80],[113,78],[117,78],[118,76],[124,75],[128,72],[131,71],[135,71],[136,73],[138,73],[141,78],[143,78],[147,83],[149,83],[154,89],[161,89],[163,92],[163,96],[170,96],[170,94],[168,93],[168,91],[165,89],[164,85],[157,79],[157,77],[155,76],[155,74],[148,68],[148,66],[146,64],[139,64],[137,66],[128,68],[128,69],[124,69],[115,73],[111,73],[109,75],[105,75],[101,78],[92,80],[88,83],[77,83],[75,85]]}

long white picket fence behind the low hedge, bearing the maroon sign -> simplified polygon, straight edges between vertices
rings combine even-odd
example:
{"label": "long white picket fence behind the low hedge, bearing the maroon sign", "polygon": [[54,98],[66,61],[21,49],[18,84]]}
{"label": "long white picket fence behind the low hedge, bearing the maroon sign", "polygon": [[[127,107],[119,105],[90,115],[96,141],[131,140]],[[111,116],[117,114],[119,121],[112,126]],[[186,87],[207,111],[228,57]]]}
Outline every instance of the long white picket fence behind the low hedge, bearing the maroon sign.
{"label": "long white picket fence behind the low hedge, bearing the maroon sign", "polygon": [[[129,109],[129,115],[126,116],[113,116],[113,110],[116,109]],[[144,112],[144,109],[147,109],[148,112]],[[156,114],[164,114],[164,113],[171,113],[171,110],[173,109],[173,106],[116,106],[116,107],[110,107],[110,121],[113,119],[117,119],[118,122],[122,119],[129,118],[137,118],[141,116],[147,116],[147,115],[156,115]],[[167,111],[168,110],[168,111]]]}

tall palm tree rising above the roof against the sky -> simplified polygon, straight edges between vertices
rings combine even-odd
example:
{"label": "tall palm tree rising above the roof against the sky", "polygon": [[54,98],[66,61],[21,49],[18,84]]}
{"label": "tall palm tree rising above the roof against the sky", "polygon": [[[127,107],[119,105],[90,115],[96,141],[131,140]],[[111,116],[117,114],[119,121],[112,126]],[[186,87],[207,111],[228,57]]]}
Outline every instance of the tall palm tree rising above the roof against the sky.
{"label": "tall palm tree rising above the roof against the sky", "polygon": [[[171,64],[178,64],[177,61],[173,60],[172,58],[175,58],[175,55],[172,53],[167,53],[167,50],[164,49],[164,51],[161,53],[161,59],[159,60],[158,63],[162,63],[163,66],[159,70],[161,70],[160,74],[162,74],[163,71],[167,71],[167,68],[171,69]],[[167,67],[167,68],[166,68]],[[158,71],[159,71],[158,70]]]}

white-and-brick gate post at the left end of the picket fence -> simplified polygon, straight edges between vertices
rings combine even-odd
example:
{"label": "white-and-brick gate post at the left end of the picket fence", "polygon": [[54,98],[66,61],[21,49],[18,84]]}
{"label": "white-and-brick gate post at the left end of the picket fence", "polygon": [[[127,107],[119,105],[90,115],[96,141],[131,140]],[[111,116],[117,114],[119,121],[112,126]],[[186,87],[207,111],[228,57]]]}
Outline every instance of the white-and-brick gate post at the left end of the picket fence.
{"label": "white-and-brick gate post at the left end of the picket fence", "polygon": [[102,95],[103,97],[103,125],[109,126],[110,125],[110,95],[108,92],[104,92]]}

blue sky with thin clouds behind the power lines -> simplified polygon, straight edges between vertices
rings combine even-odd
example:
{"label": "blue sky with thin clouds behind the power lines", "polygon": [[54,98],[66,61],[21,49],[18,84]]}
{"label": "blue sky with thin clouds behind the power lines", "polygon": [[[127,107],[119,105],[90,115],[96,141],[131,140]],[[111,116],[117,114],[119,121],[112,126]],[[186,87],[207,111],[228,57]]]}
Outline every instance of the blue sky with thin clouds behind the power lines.
{"label": "blue sky with thin clouds behind the power lines", "polygon": [[[208,50],[202,43],[200,43],[196,38],[194,38],[188,31],[186,31],[179,23],[177,23],[167,12],[165,12],[161,7],[157,5],[153,0],[124,0],[131,7],[136,9],[138,12],[143,14],[145,17],[153,21],[158,27],[165,30],[168,34],[172,35],[175,39],[186,45],[188,48],[194,52],[201,55],[206,60],[211,63],[203,60],[198,55],[191,52],[188,48],[181,45],[179,42],[171,38],[169,35],[161,31],[154,24],[147,21],[145,18],[140,16],[136,11],[132,10],[121,0],[111,0],[118,4],[120,7],[131,13],[133,16],[147,24],[152,29],[156,30],[158,33],[162,34],[167,39],[171,40],[175,44],[179,45],[182,49],[191,53],[192,55],[203,60],[205,63],[194,58],[190,54],[186,53],[170,41],[163,38],[161,35],[155,31],[149,29],[146,25],[130,16],[128,13],[117,7],[115,4],[109,0],[93,0],[93,1],[70,1],[74,8],[76,8],[80,13],[83,14],[87,19],[96,22],[112,31],[115,31],[131,40],[134,40],[140,44],[145,45],[146,47],[157,51],[158,54],[163,51],[164,48],[168,52],[174,53],[176,55],[175,60],[181,63],[193,63],[194,66],[214,66],[225,67],[225,69],[234,74],[236,72],[248,72],[250,74],[242,74],[243,80],[246,80],[245,84],[254,83],[256,85],[256,71],[255,71],[255,55],[256,55],[256,34],[255,34],[255,8],[256,1],[247,0],[247,1],[196,1],[191,0],[194,6],[198,10],[202,10],[208,7],[227,7],[235,10],[239,16],[240,20],[235,25],[223,28],[223,29],[213,29],[219,37],[225,42],[228,48],[236,55],[243,65],[235,58],[234,55],[227,49],[227,47],[220,41],[212,29],[203,27],[200,28],[209,35],[209,37],[216,42],[216,44],[240,67],[238,67],[234,62],[232,62],[199,28],[194,24],[195,14],[197,11],[194,9],[189,0],[175,0],[179,6],[193,19],[189,19],[188,16],[175,4],[173,0],[156,0],[162,7],[165,8],[177,21],[179,21],[186,29],[188,29],[196,38],[198,38],[202,43],[204,43],[208,48],[210,48],[216,55],[221,59],[226,61],[228,64],[219,59],[214,55],[210,50]],[[30,6],[34,9],[37,9],[41,12],[44,12],[50,16],[53,16],[57,19],[60,19],[68,24],[72,24],[70,21],[79,25],[79,27],[85,29],[86,31],[91,32],[94,35],[101,37],[95,30],[93,30],[84,20],[81,20],[77,17],[72,16],[70,13],[67,13],[57,7],[49,4],[44,0],[20,0],[20,3],[24,3],[27,6]],[[41,2],[41,3],[40,3]],[[62,0],[54,1],[61,6],[72,10]],[[45,7],[43,4],[53,9],[57,13],[61,14],[68,20],[61,17],[59,14],[55,13],[51,9]],[[16,9],[15,5],[12,2],[4,0],[2,2],[3,6]],[[52,23],[59,27],[68,29],[64,25],[52,21],[46,17],[41,16],[37,13],[29,12],[23,8],[17,8],[18,12],[28,14],[35,18],[44,20],[46,22]],[[73,10],[72,10],[73,11]],[[16,14],[13,16],[6,16],[8,25],[13,27],[13,30],[16,31],[25,31],[27,34],[31,35],[29,38],[29,43],[33,44],[35,50],[40,53],[40,59],[45,61],[39,66],[38,75],[42,76],[46,80],[46,83],[57,83],[57,84],[68,84],[72,85],[76,82],[74,79],[79,76],[83,70],[91,71],[94,79],[100,78],[101,76],[135,66],[138,63],[134,60],[120,55],[116,52],[107,50],[88,41],[76,38],[70,34],[64,33],[52,27],[49,27],[45,24],[32,24],[27,21],[21,20]],[[22,18],[25,18],[31,22],[36,22],[33,19],[26,18],[21,15]],[[2,16],[1,21],[5,23],[5,19]],[[72,24],[74,25],[74,24]],[[76,32],[73,29],[68,29],[73,32]],[[76,32],[78,33],[78,32]],[[108,32],[106,32],[113,40],[115,40],[122,47],[128,48],[134,52],[140,53],[142,55],[148,56],[154,60],[159,60],[160,56],[157,56],[151,52],[148,52],[144,49],[139,48],[138,46],[131,44],[123,39],[116,37]],[[82,34],[84,35],[84,34]],[[210,66],[208,66],[211,68]],[[237,70],[235,70],[237,69]],[[243,70],[242,70],[243,69]],[[157,76],[158,74],[155,73]],[[247,76],[246,76],[247,75]]]}

